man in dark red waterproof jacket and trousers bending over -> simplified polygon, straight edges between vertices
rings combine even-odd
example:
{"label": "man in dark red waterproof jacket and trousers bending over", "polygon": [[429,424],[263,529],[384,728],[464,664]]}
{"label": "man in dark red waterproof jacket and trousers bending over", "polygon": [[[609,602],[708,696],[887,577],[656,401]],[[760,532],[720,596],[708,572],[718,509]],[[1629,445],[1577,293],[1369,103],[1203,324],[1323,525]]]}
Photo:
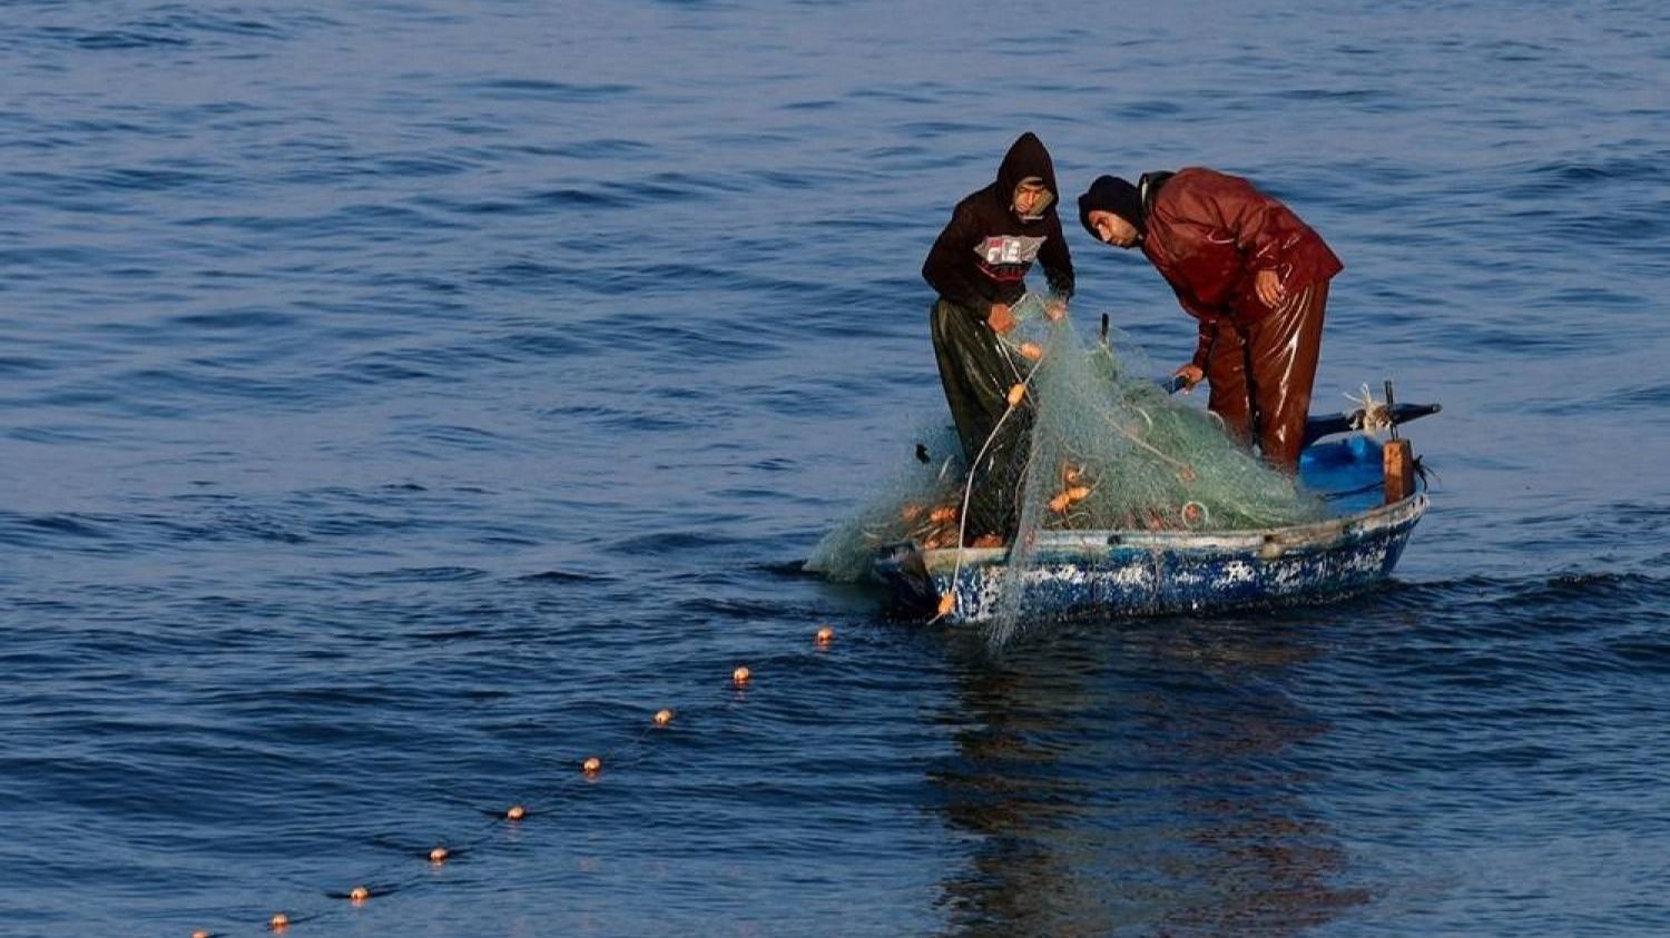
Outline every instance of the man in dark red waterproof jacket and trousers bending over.
{"label": "man in dark red waterproof jacket and trousers bending over", "polygon": [[1251,182],[1202,167],[1102,175],[1079,197],[1097,240],[1141,247],[1199,320],[1184,387],[1211,382],[1207,407],[1242,444],[1298,472],[1323,344],[1328,280],[1344,265],[1298,215]]}

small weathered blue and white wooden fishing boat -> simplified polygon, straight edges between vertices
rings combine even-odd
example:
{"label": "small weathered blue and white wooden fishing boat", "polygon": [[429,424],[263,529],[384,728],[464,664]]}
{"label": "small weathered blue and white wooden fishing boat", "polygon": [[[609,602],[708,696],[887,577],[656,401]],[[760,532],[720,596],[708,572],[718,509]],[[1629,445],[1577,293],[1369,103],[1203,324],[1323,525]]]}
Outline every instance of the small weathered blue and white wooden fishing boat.
{"label": "small weathered blue and white wooden fishing boat", "polygon": [[[1435,414],[1438,404],[1389,404],[1311,417],[1299,457],[1304,486],[1334,516],[1254,531],[1040,531],[1019,584],[1007,576],[1007,547],[877,551],[872,574],[897,611],[954,623],[992,619],[1004,591],[1040,616],[1156,616],[1251,606],[1319,603],[1359,593],[1391,576],[1426,514],[1416,491],[1420,461],[1398,426]],[[1366,431],[1389,429],[1381,441]],[[1348,434],[1343,439],[1328,439]],[[954,603],[944,603],[944,598]]]}

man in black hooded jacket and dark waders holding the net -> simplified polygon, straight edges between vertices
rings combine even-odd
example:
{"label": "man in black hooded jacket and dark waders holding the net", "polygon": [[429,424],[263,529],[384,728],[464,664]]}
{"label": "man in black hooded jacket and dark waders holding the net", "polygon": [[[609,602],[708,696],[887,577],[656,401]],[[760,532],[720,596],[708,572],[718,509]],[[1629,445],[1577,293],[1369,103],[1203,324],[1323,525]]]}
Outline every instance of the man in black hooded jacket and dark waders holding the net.
{"label": "man in black hooded jacket and dark waders holding the net", "polygon": [[1004,155],[997,182],[957,204],[922,264],[922,277],[939,290],[930,329],[940,382],[975,474],[964,506],[965,531],[975,546],[999,546],[1014,534],[1014,492],[1025,464],[1027,416],[1019,409],[1004,419],[1009,389],[1024,371],[999,335],[1015,327],[1010,307],[1025,294],[1024,277],[1034,260],[1049,280],[1050,319],[1065,314],[1072,295],[1072,257],[1055,212],[1057,192],[1049,150],[1034,134],[1022,134]]}

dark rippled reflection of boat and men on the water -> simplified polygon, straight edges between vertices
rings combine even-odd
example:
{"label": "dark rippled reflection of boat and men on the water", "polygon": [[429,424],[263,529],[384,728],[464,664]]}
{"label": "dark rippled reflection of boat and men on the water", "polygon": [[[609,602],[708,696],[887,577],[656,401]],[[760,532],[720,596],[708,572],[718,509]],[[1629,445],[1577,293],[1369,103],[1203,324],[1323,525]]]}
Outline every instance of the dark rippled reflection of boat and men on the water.
{"label": "dark rippled reflection of boat and men on the water", "polygon": [[1075,626],[959,679],[957,935],[1298,935],[1366,901],[1306,804],[1304,623]]}

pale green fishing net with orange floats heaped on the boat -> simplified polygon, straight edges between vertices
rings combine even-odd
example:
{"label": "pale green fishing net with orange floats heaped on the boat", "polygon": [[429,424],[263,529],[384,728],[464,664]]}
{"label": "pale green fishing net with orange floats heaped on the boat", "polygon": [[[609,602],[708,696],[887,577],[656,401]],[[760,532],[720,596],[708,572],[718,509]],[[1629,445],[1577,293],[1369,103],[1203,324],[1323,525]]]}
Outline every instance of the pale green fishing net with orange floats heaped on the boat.
{"label": "pale green fishing net with orange floats heaped on the boat", "polygon": [[[1022,382],[1010,389],[1005,419],[1030,411],[1029,439],[1017,456],[1024,466],[969,479],[960,459],[918,462],[857,519],[832,531],[808,569],[850,581],[863,577],[873,551],[890,542],[965,544],[960,506],[967,494],[1019,477],[1015,491],[1004,492],[1014,499],[1019,527],[1009,539],[992,624],[994,638],[1005,641],[1027,614],[1017,604],[1037,531],[1244,531],[1326,514],[1321,499],[1237,446],[1216,416],[1139,376],[1106,334],[1086,342],[1069,320],[1044,315],[1044,302],[1032,294],[1014,314],[1017,327],[1002,342]],[[934,452],[957,451],[955,436],[935,437]]]}

